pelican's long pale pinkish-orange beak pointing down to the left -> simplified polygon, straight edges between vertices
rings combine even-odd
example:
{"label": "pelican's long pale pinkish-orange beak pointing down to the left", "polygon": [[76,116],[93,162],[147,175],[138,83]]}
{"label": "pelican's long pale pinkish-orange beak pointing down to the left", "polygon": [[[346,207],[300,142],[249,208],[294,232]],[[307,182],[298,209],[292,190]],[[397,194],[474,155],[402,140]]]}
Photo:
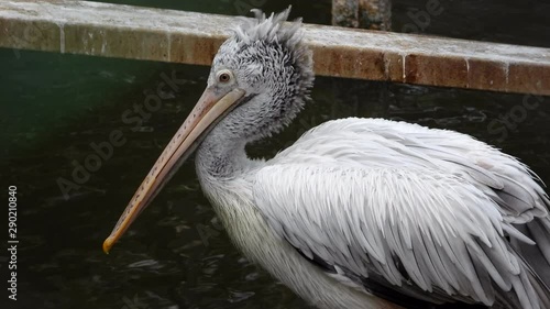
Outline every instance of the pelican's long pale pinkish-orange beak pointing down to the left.
{"label": "pelican's long pale pinkish-orange beak pointing down to the left", "polygon": [[191,113],[143,179],[109,238],[105,240],[105,253],[109,253],[140,212],[151,203],[182,163],[193,153],[199,137],[231,111],[244,95],[245,91],[239,88],[221,96],[217,96],[210,87],[205,90]]}

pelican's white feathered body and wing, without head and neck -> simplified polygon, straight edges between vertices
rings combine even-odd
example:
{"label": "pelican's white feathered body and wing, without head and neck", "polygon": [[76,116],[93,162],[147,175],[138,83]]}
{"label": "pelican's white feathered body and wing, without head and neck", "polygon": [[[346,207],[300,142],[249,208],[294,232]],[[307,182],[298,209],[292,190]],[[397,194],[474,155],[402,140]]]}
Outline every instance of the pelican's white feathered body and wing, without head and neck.
{"label": "pelican's white feathered body and wing, without head and neck", "polygon": [[[522,308],[540,308],[529,269],[508,251],[505,234],[517,238],[518,251],[532,242],[512,223],[536,222],[548,238],[546,195],[525,165],[469,135],[345,119],[312,129],[271,161],[250,161],[244,147],[233,156],[241,156],[239,172],[219,179],[206,173],[201,158],[209,156],[199,150],[205,192],[235,244],[319,308],[394,306],[354,278],[372,273],[433,301],[454,296],[487,306],[495,301],[491,280],[498,280],[525,296]],[[525,203],[499,206],[498,190]],[[297,250],[340,269],[323,272]]]}

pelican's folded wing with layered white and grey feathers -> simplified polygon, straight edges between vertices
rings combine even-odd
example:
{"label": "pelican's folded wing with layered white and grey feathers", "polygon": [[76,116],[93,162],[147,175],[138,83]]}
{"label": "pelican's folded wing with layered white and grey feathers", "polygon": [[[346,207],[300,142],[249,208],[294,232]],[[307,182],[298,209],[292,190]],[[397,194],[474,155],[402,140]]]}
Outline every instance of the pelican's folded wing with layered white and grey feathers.
{"label": "pelican's folded wing with layered white and grey feathers", "polygon": [[[435,304],[549,305],[537,275],[550,269],[548,196],[525,165],[468,135],[329,122],[260,169],[253,196],[282,238],[348,285]],[[548,267],[534,271],[526,246]]]}

